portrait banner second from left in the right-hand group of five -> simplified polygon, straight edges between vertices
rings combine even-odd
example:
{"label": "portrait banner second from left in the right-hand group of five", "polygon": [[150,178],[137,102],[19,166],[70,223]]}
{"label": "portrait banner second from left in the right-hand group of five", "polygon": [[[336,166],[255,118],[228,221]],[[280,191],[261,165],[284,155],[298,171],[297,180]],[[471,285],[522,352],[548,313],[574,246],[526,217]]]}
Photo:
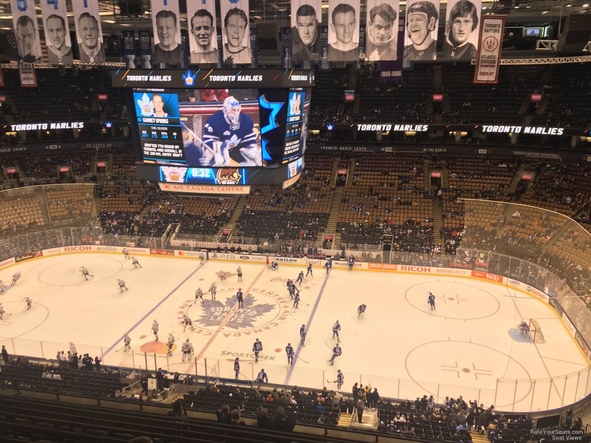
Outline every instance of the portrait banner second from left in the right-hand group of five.
{"label": "portrait banner second from left in the right-hand group of five", "polygon": [[359,0],[329,0],[329,60],[359,59]]}

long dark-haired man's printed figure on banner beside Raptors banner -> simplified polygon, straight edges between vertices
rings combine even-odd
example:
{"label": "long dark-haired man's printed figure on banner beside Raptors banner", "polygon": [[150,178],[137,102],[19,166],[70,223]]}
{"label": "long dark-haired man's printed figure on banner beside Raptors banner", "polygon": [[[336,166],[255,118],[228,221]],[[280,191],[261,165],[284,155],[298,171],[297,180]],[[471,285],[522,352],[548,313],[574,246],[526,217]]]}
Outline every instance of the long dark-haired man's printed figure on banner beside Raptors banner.
{"label": "long dark-haired man's printed figure on banner beside Raptors banner", "polygon": [[478,11],[469,0],[459,0],[449,12],[443,54],[458,60],[476,58],[476,48],[468,40],[478,27]]}

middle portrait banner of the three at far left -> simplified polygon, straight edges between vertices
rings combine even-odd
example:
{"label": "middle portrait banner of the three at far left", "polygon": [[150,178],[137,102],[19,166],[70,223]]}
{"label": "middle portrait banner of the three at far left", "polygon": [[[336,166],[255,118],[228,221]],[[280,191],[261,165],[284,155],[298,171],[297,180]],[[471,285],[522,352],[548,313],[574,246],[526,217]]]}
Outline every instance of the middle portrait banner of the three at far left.
{"label": "middle portrait banner of the three at far left", "polygon": [[41,17],[43,17],[45,30],[48,63],[72,64],[74,57],[66,2],[41,0]]}

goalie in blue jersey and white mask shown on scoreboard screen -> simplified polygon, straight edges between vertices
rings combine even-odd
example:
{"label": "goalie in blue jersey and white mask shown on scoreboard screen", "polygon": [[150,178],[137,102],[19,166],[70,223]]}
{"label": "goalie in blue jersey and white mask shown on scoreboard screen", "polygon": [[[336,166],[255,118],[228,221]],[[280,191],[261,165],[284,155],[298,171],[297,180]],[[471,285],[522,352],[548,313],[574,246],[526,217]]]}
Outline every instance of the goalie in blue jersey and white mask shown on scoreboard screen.
{"label": "goalie in blue jersey and white mask shown on scoreboard screen", "polygon": [[222,109],[207,118],[203,127],[201,166],[261,166],[252,119],[241,113],[240,102],[229,96]]}

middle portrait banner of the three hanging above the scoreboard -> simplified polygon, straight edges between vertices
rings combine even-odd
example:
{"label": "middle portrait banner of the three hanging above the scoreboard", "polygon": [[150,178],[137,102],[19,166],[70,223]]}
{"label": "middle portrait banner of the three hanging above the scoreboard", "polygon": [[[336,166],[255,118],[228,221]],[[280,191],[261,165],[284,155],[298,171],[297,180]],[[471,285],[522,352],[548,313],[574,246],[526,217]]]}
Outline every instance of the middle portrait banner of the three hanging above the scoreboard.
{"label": "middle portrait banner of the three hanging above the scoreboard", "polygon": [[187,0],[187,27],[190,34],[191,63],[219,63],[216,2]]}

